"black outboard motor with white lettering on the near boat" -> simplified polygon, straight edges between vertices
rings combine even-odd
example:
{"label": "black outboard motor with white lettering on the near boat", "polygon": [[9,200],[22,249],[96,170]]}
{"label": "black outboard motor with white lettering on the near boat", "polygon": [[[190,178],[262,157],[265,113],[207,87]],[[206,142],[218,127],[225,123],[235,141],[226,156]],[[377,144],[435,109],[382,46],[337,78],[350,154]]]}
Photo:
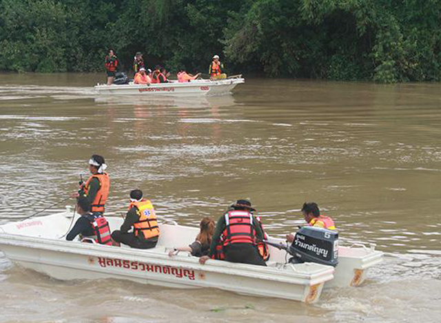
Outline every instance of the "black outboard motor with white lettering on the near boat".
{"label": "black outboard motor with white lettering on the near boat", "polygon": [[302,227],[288,249],[294,256],[289,262],[317,262],[336,267],[338,232],[317,227]]}

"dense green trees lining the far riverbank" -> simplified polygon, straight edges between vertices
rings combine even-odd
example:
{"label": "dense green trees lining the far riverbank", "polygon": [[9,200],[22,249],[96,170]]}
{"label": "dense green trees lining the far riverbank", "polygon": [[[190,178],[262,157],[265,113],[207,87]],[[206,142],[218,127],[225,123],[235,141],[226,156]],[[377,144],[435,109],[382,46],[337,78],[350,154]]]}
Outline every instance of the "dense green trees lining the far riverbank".
{"label": "dense green trees lining the far riverbank", "polygon": [[0,70],[147,65],[336,80],[440,81],[441,0],[0,0]]}

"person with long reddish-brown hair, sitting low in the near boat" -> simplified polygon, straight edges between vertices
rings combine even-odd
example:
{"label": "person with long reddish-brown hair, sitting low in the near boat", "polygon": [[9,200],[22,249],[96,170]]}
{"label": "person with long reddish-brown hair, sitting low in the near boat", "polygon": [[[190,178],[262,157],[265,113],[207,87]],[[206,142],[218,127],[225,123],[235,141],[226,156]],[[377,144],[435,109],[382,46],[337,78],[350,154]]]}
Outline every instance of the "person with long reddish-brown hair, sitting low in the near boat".
{"label": "person with long reddish-brown hair, sitting low in the near boat", "polygon": [[177,247],[168,253],[168,256],[172,257],[176,255],[179,251],[188,251],[195,257],[206,256],[209,251],[209,245],[212,242],[212,236],[214,234],[214,228],[216,224],[212,218],[205,217],[199,223],[199,231],[196,236],[196,240],[188,247]]}

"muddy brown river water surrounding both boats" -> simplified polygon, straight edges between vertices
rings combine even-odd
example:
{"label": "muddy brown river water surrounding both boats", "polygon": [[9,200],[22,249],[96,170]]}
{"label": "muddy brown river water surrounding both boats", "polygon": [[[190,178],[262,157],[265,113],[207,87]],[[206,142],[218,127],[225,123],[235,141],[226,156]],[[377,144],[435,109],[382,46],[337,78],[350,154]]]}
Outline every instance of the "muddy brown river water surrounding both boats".
{"label": "muddy brown river water surrounding both boats", "polygon": [[99,98],[101,74],[1,74],[0,222],[60,202],[92,154],[109,213],[141,188],[196,225],[249,198],[272,236],[316,201],[343,242],[386,253],[359,288],[314,305],[119,280],[61,282],[0,253],[0,322],[440,322],[439,84],[250,79],[211,98]]}

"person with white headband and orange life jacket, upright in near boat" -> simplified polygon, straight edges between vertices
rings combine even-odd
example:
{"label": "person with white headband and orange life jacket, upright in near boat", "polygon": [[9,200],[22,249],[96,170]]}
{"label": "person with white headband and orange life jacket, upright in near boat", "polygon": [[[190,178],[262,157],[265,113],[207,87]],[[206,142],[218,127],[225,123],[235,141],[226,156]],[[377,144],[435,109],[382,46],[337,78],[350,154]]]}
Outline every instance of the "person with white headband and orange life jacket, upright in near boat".
{"label": "person with white headband and orange life jacket, upright in near boat", "polygon": [[103,215],[105,202],[109,196],[110,178],[105,173],[106,168],[103,156],[92,155],[89,160],[89,170],[92,175],[85,183],[81,180],[78,193],[72,194],[73,198],[85,196],[92,205],[91,211],[94,216]]}

